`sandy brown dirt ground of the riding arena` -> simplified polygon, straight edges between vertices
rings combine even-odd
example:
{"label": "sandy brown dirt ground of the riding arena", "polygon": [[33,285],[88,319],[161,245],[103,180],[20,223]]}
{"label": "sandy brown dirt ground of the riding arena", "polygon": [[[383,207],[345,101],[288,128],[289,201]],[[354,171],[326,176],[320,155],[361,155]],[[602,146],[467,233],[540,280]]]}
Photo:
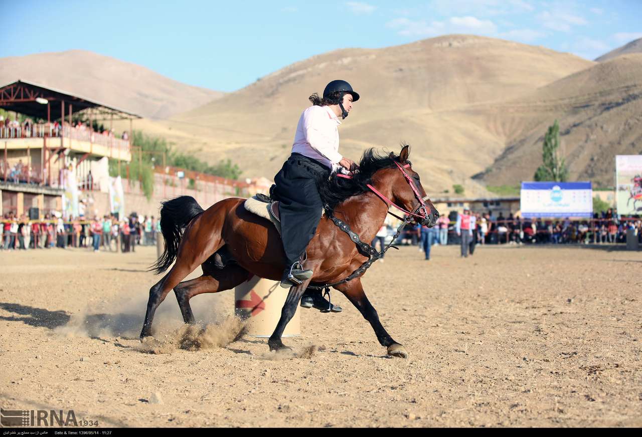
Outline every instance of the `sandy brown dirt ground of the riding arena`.
{"label": "sandy brown dirt ground of the riding arena", "polygon": [[216,346],[233,292],[196,296],[196,318],[220,327],[177,348],[171,293],[149,353],[155,248],[1,252],[0,404],[127,427],[639,427],[642,252],[619,249],[391,250],[363,282],[408,359],[386,357],[338,292],[343,313],[299,309],[295,356],[247,336]]}

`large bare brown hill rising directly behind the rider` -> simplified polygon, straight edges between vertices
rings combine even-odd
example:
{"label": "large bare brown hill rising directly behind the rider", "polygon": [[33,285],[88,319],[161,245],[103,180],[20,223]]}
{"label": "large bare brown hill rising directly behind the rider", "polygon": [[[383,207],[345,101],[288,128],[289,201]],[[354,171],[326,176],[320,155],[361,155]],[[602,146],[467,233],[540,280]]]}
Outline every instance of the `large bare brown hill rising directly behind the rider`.
{"label": "large bare brown hill rising directly behind the rider", "polygon": [[[592,62],[544,47],[449,35],[383,49],[342,49],[313,56],[146,132],[166,135],[207,160],[230,158],[244,176],[272,176],[290,152],[308,96],[343,78],[361,93],[340,127],[342,153],[353,159],[369,146],[413,146],[412,160],[431,193],[463,184],[505,148],[507,126],[469,112],[528,94]],[[511,131],[512,132],[512,131]]]}

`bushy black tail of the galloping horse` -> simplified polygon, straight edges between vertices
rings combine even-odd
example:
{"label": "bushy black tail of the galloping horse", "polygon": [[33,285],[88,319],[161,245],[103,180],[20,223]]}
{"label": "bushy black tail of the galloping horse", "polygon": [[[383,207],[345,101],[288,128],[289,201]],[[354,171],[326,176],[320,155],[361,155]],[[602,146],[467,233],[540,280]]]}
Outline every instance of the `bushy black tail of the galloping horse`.
{"label": "bushy black tail of the galloping horse", "polygon": [[178,253],[178,244],[183,230],[203,209],[192,196],[179,196],[162,202],[160,208],[160,230],[165,239],[165,250],[160,258],[152,264],[150,270],[157,275],[171,266]]}

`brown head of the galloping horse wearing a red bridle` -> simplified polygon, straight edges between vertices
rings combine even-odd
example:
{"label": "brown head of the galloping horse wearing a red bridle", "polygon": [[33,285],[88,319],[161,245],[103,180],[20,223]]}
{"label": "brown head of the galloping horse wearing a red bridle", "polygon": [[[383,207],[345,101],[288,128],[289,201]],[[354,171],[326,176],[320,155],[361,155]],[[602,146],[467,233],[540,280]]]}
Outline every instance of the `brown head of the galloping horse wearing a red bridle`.
{"label": "brown head of the galloping horse wearing a red bridle", "polygon": [[388,172],[392,199],[397,205],[416,214],[413,218],[417,223],[433,227],[437,223],[439,212],[426,195],[424,187],[421,186],[419,175],[412,169],[408,155],[410,155],[410,146],[407,144],[401,149],[399,157],[390,153],[390,159],[396,164],[394,170]]}

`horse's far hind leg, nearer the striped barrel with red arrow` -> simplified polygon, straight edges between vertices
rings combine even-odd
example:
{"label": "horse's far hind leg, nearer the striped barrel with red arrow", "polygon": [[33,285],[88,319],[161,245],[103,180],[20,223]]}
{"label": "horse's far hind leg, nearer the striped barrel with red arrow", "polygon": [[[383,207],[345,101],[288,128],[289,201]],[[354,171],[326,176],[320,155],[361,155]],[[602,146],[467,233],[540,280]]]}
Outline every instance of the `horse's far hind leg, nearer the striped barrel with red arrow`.
{"label": "horse's far hind leg, nearer the striped barrel with red arrow", "polygon": [[190,325],[195,323],[194,314],[189,306],[191,298],[202,293],[218,293],[219,291],[232,289],[252,276],[237,264],[231,264],[220,270],[211,269],[208,273],[209,275],[206,274],[196,279],[181,282],[174,288],[178,306],[183,314],[185,323]]}

